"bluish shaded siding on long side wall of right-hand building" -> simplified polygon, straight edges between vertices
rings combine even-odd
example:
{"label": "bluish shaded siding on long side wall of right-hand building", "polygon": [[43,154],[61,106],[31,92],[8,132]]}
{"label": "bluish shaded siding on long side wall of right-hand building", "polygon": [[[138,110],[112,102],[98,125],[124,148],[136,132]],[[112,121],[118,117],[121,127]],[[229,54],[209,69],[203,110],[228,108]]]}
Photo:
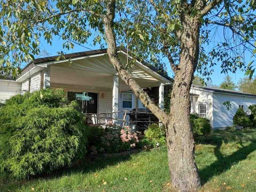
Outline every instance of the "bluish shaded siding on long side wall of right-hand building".
{"label": "bluish shaded siding on long side wall of right-hand building", "polygon": [[[234,95],[234,94],[224,94],[224,93],[214,93],[214,128],[226,128],[233,125],[233,117],[238,110],[238,105],[243,105],[244,110],[252,104],[256,104],[256,97]],[[231,108],[228,110],[223,102],[230,101]]]}

